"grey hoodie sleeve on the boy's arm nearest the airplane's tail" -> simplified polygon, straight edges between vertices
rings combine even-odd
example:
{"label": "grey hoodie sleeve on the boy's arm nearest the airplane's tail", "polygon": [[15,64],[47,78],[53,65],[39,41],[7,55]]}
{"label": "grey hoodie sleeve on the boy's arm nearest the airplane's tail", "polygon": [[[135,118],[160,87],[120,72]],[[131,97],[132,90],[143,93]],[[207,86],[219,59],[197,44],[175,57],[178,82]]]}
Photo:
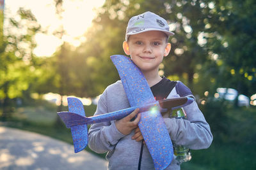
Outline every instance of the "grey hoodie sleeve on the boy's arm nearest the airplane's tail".
{"label": "grey hoodie sleeve on the boy's arm nearest the airplane's tail", "polygon": [[[94,115],[108,113],[107,96],[107,90],[105,90],[100,96]],[[116,129],[115,121],[92,124],[88,132],[88,146],[97,153],[109,152],[115,148],[116,143],[123,137],[124,134]]]}

